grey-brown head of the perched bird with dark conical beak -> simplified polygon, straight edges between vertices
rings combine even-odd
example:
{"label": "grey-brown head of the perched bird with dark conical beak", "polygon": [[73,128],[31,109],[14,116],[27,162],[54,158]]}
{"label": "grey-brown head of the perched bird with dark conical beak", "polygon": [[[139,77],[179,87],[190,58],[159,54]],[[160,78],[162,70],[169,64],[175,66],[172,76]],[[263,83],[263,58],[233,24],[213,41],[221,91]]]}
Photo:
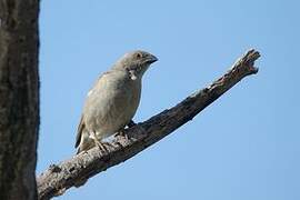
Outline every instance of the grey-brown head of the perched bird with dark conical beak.
{"label": "grey-brown head of the perched bird with dark conical beak", "polygon": [[132,51],[126,53],[114,64],[114,69],[127,70],[132,80],[141,79],[151,63],[158,61],[158,58],[146,51]]}

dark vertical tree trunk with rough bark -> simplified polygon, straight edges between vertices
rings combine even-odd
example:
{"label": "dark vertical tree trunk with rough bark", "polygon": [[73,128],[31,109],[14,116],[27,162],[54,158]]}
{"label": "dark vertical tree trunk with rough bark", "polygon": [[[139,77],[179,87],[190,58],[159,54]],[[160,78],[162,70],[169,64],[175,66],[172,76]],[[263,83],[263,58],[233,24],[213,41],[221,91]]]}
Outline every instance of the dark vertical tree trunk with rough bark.
{"label": "dark vertical tree trunk with rough bark", "polygon": [[0,0],[0,199],[38,199],[38,0]]}

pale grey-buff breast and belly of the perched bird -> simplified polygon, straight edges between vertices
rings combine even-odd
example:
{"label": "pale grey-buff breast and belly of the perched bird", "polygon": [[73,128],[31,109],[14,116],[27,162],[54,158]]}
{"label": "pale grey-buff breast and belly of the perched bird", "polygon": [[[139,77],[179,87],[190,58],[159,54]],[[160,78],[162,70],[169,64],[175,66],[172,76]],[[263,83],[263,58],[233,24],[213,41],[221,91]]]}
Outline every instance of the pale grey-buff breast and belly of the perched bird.
{"label": "pale grey-buff breast and belly of the perched bird", "polygon": [[133,118],[140,96],[140,80],[100,80],[86,102],[89,129],[99,132],[100,139],[114,133]]}

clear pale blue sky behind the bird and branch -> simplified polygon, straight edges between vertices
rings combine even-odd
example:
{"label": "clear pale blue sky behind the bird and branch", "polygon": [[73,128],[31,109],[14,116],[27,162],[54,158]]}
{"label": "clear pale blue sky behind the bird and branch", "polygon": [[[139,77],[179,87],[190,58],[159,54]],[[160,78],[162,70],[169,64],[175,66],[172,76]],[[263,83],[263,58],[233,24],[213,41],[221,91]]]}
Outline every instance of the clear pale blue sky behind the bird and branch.
{"label": "clear pale blue sky behind the bird and branch", "polygon": [[197,118],[57,199],[300,199],[300,3],[294,0],[43,0],[37,173],[72,157],[86,94],[124,52],[156,54],[137,122],[262,54]]}

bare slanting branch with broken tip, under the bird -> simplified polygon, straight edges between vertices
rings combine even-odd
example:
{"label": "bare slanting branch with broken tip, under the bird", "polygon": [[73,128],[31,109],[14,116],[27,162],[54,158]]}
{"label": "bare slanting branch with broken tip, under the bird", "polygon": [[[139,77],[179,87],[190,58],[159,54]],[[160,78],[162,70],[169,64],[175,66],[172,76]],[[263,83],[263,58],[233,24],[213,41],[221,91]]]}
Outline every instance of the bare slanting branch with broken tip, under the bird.
{"label": "bare slanting branch with broken tip, under the bird", "polygon": [[93,148],[86,153],[62,161],[58,166],[50,166],[37,178],[39,199],[50,199],[62,194],[78,182],[132,158],[192,120],[194,116],[242,78],[257,73],[258,69],[253,64],[259,57],[258,51],[249,50],[224,76],[211,86],[194,92],[176,107],[127,129],[128,138],[116,137],[111,146],[108,147],[108,152],[101,152],[98,148]]}

